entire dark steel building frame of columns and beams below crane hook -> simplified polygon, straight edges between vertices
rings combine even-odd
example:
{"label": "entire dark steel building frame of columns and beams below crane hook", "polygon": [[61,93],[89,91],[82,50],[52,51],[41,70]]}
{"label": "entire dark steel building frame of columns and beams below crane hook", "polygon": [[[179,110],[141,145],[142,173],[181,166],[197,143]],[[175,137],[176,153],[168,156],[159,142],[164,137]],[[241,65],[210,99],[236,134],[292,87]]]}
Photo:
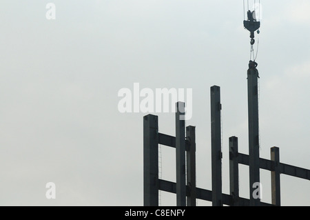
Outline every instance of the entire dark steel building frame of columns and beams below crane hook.
{"label": "entire dark steel building frame of columns and beams below crane hook", "polygon": [[[177,206],[196,206],[196,199],[212,206],[280,206],[280,174],[310,180],[310,170],[280,163],[280,150],[271,148],[271,159],[259,155],[258,70],[247,70],[249,155],[238,152],[238,137],[229,137],[229,194],[222,192],[222,150],[220,87],[212,86],[211,96],[211,182],[212,189],[196,188],[196,134],[185,128],[185,103],[176,103],[176,137],[158,132],[158,117],[143,117],[143,204],[158,206],[158,191],[176,193]],[[183,117],[182,117],[183,116]],[[158,178],[158,145],[176,149],[176,183]],[[239,197],[238,165],[249,166],[250,198]],[[260,169],[271,171],[271,203],[260,201]]]}

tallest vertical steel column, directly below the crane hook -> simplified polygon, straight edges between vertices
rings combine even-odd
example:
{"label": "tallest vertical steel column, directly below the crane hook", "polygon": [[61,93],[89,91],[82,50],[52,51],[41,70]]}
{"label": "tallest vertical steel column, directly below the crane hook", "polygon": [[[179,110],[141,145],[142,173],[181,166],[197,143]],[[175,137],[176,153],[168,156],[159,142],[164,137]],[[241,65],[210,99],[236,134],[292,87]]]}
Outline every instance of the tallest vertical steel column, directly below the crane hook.
{"label": "tallest vertical steel column, directly below the crane hook", "polygon": [[258,70],[247,70],[248,117],[249,117],[249,188],[250,206],[260,206],[260,198],[254,197],[260,183],[260,146],[258,134]]}

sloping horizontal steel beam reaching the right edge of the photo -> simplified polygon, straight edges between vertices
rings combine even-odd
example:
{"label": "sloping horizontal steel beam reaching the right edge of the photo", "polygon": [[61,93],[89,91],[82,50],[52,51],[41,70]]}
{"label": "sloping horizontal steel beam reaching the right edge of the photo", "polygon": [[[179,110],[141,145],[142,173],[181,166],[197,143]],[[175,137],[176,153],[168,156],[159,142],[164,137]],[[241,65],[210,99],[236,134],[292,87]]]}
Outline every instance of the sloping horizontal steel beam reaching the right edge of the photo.
{"label": "sloping horizontal steel beam reaching the right edge of the photo", "polygon": [[[240,164],[249,166],[249,155],[238,153],[238,161]],[[260,158],[260,168],[264,170],[274,171],[274,162],[268,159]],[[292,177],[310,180],[310,170],[291,166],[285,163],[279,164],[279,171],[282,174],[287,174]]]}

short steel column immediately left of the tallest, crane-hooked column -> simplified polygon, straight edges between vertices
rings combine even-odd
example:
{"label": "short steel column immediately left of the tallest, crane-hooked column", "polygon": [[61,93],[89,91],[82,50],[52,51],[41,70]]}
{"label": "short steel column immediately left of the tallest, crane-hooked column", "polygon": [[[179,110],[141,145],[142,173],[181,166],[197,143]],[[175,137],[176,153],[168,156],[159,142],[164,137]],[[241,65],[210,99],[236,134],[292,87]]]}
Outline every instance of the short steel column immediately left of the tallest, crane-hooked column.
{"label": "short steel column immediately left of the tallest, crane-hooked column", "polygon": [[239,206],[238,137],[229,137],[229,188],[233,206]]}

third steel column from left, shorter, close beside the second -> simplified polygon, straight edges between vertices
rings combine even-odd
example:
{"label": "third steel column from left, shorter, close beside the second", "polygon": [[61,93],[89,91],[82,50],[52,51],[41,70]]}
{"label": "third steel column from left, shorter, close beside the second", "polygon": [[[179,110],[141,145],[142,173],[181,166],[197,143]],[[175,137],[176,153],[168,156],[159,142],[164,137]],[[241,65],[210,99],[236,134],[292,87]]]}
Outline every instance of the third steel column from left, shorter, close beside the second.
{"label": "third steel column from left, shorter, close beside the second", "polygon": [[189,146],[186,152],[187,186],[189,187],[187,206],[196,206],[196,134],[194,126],[186,127],[186,141]]}

